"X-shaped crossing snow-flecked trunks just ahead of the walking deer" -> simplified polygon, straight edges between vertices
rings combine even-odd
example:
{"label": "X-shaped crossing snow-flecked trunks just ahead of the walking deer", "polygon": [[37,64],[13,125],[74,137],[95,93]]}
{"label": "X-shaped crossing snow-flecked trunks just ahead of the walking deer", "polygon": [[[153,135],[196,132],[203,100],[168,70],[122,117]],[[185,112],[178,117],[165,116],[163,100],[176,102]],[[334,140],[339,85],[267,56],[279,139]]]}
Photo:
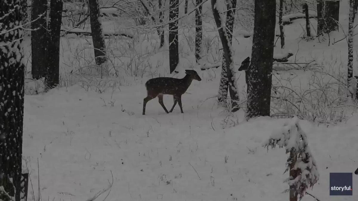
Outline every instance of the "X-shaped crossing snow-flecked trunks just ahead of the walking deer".
{"label": "X-shaped crossing snow-flecked trunks just ahead of the walking deer", "polygon": [[227,5],[226,28],[228,30],[226,30],[226,28],[222,27],[221,25],[220,15],[215,7],[216,0],[212,0],[211,4],[212,4],[215,23],[218,27],[219,36],[224,49],[218,99],[219,101],[224,102],[226,100],[227,90],[229,88],[232,112],[236,112],[239,109],[238,107],[236,107],[237,102],[239,100],[239,96],[236,87],[236,76],[233,71],[232,53],[231,53],[232,31],[233,31],[234,10],[235,10],[234,8],[236,8],[236,0],[229,1]]}

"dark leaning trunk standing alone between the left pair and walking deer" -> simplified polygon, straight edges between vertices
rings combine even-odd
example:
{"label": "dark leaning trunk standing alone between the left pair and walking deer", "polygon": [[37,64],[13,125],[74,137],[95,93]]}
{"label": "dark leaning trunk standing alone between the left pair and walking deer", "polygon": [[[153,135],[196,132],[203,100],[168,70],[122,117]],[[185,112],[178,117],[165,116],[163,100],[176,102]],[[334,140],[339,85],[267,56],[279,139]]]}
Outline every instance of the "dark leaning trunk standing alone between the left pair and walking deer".
{"label": "dark leaning trunk standing alone between the left pair and walking deer", "polygon": [[100,7],[98,0],[88,0],[89,18],[91,21],[93,48],[95,49],[96,64],[101,65],[106,61],[105,40],[102,34],[100,22]]}

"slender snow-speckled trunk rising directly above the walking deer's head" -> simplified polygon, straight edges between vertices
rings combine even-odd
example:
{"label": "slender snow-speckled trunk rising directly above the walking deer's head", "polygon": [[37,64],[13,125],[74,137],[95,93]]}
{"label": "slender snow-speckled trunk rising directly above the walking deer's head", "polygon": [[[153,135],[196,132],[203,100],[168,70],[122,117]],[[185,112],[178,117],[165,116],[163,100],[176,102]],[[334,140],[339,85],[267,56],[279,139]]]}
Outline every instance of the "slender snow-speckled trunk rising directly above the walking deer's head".
{"label": "slender snow-speckled trunk rising directly above the walking deer's head", "polygon": [[[196,0],[196,6],[200,5],[203,1]],[[202,28],[202,10],[203,6],[200,5],[199,8],[195,10],[195,61],[198,63],[201,59],[201,45],[203,38],[203,28]]]}

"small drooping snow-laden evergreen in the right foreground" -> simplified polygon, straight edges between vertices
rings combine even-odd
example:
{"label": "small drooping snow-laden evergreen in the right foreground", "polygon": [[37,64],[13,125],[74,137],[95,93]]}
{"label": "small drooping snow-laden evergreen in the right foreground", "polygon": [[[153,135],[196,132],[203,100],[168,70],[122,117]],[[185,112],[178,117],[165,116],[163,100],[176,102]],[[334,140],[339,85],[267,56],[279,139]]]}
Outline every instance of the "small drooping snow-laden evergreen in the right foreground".
{"label": "small drooping snow-laden evergreen in the right foreground", "polygon": [[307,135],[302,130],[297,117],[272,132],[263,146],[267,150],[269,147],[285,147],[286,153],[290,153],[285,170],[290,173],[290,177],[286,179],[290,189],[285,190],[286,192],[290,191],[290,201],[297,201],[297,197],[301,199],[307,188],[312,188],[317,183],[319,173],[316,161],[308,147]]}

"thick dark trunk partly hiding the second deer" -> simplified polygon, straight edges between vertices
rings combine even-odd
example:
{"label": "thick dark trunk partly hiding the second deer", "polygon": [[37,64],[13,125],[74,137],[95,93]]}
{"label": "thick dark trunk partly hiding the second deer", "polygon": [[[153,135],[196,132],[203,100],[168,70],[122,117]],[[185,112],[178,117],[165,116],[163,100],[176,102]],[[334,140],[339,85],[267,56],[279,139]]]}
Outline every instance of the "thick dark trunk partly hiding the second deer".
{"label": "thick dark trunk partly hiding the second deer", "polygon": [[251,67],[248,73],[246,118],[270,116],[276,0],[255,0]]}

